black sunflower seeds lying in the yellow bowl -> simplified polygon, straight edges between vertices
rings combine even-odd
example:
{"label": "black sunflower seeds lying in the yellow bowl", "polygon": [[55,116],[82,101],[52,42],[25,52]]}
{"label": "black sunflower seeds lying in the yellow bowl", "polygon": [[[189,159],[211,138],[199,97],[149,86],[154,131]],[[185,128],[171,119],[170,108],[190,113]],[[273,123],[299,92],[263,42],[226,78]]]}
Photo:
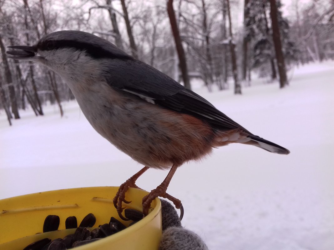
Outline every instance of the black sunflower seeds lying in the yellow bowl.
{"label": "black sunflower seeds lying in the yellow bowl", "polygon": [[[141,220],[144,215],[142,212],[127,208],[125,209],[125,217],[133,220],[129,226],[133,225],[137,221]],[[44,220],[43,233],[58,230],[60,223],[59,216],[48,215]],[[69,234],[64,238],[58,238],[51,240],[49,238],[44,238],[35,241],[23,250],[65,250],[74,247],[82,246],[99,239],[105,238],[107,236],[113,235],[121,230],[125,229],[126,226],[114,217],[110,218],[109,223],[99,225],[98,228],[92,228],[96,223],[96,217],[94,214],[90,213],[82,219],[79,227],[77,226],[77,221],[75,216],[67,217],[65,221],[65,228],[76,228],[74,234]]]}

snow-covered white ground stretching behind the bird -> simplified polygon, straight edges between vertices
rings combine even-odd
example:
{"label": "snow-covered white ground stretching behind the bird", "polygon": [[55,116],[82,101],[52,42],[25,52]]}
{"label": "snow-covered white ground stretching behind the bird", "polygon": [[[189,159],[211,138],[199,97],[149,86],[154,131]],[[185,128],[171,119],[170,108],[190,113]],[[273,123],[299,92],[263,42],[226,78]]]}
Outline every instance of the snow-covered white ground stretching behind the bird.
{"label": "snow-covered white ground stretching behind the bird", "polygon": [[[178,169],[168,193],[185,208],[182,224],[210,250],[334,249],[334,63],[289,72],[288,88],[261,83],[195,91],[252,133],[288,148],[277,155],[248,145],[215,149]],[[21,111],[9,127],[0,113],[0,199],[39,191],[119,186],[142,168],[102,138],[76,102],[44,117]],[[159,185],[150,170],[137,184]],[[1,209],[1,208],[0,208]]]}

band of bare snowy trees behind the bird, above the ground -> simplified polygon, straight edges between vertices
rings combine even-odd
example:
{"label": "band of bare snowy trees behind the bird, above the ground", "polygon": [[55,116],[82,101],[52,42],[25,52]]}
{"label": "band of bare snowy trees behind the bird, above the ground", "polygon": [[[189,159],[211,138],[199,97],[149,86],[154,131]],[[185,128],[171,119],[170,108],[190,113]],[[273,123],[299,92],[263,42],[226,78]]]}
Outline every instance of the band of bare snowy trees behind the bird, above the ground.
{"label": "band of bare snowy trees behind the bird, above the ground", "polygon": [[33,45],[57,30],[91,32],[191,89],[252,87],[252,76],[284,88],[295,65],[334,59],[334,3],[293,0],[1,0],[0,108],[11,119],[28,106],[74,99],[54,72],[7,58],[11,45]]}

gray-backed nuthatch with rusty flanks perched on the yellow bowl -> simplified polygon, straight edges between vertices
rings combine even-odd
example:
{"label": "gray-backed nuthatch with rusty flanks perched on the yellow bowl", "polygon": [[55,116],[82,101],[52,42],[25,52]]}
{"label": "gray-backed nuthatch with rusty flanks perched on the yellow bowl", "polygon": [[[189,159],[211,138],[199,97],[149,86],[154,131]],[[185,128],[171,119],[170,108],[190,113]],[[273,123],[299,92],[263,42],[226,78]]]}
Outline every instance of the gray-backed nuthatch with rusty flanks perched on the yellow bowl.
{"label": "gray-backed nuthatch with rusty flanks perched on the yellow bowl", "polygon": [[[148,214],[156,197],[183,206],[167,193],[178,167],[199,160],[213,148],[230,143],[254,145],[269,152],[290,151],[249,132],[156,68],[130,56],[111,42],[88,32],[62,30],[35,45],[9,46],[10,58],[45,65],[67,83],[93,128],[144,167],[119,188],[114,206],[121,218],[125,193],[139,188],[148,169],[169,169],[163,182],[143,197]],[[126,219],[126,218],[124,218]]]}

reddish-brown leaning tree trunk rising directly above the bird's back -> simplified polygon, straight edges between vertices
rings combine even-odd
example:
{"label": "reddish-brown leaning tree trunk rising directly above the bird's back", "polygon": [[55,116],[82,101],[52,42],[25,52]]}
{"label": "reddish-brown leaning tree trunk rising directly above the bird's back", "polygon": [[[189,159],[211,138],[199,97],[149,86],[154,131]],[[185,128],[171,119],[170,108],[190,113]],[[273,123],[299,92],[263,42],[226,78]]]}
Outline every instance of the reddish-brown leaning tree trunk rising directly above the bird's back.
{"label": "reddish-brown leaning tree trunk rising directly above the bird's back", "polygon": [[186,87],[187,89],[191,89],[189,75],[188,75],[188,69],[187,69],[186,57],[185,57],[185,53],[184,53],[184,50],[183,50],[179,29],[178,29],[177,23],[176,23],[175,12],[174,12],[174,8],[173,8],[173,0],[168,0],[168,2],[167,2],[167,12],[168,12],[168,16],[169,16],[170,25],[171,25],[171,28],[172,28],[174,40],[175,40],[175,46],[176,46],[177,54],[179,56],[180,68],[181,68],[181,72],[182,72],[184,87]]}

